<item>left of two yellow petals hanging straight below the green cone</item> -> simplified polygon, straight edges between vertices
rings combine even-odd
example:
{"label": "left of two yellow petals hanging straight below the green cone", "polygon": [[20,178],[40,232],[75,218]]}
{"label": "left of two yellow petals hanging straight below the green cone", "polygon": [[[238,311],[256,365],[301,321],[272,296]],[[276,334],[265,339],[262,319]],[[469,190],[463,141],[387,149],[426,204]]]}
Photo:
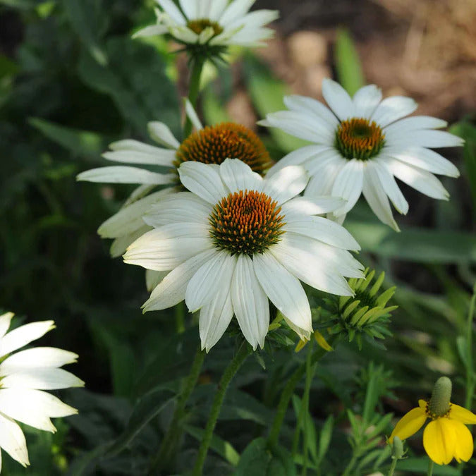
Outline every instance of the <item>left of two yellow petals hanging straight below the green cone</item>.
{"label": "left of two yellow petals hanging straight below the green cone", "polygon": [[456,432],[449,418],[429,422],[423,432],[423,446],[427,455],[438,465],[447,465],[455,455]]}

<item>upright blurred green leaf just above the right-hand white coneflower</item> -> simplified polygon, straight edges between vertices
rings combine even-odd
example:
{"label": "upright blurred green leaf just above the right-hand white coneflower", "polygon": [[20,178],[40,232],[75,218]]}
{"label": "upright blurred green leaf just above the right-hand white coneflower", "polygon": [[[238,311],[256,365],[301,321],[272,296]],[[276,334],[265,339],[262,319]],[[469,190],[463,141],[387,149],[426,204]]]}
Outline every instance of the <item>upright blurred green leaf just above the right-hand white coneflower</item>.
{"label": "upright blurred green leaf just above the right-hand white coneflower", "polygon": [[365,85],[365,78],[353,39],[346,29],[337,30],[335,61],[338,80],[352,96]]}

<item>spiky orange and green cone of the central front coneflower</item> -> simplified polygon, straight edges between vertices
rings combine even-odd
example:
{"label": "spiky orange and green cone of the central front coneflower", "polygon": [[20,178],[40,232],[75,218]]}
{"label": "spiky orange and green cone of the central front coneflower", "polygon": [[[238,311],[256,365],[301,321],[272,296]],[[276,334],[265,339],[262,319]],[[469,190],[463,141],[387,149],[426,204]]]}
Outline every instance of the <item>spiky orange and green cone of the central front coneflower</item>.
{"label": "spiky orange and green cone of the central front coneflower", "polygon": [[216,247],[231,255],[266,251],[281,240],[281,207],[265,193],[240,190],[222,198],[209,216]]}

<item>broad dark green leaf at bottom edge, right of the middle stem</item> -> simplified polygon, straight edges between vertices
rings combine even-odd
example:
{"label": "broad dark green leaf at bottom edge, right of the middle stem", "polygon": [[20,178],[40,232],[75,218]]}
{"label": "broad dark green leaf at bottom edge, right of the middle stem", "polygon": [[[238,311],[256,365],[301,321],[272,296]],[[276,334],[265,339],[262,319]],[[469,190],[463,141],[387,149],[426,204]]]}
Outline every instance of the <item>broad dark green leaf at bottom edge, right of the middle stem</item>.
{"label": "broad dark green leaf at bottom edge, right of the middle stem", "polygon": [[295,476],[291,455],[284,448],[271,451],[264,438],[253,440],[243,451],[235,476]]}

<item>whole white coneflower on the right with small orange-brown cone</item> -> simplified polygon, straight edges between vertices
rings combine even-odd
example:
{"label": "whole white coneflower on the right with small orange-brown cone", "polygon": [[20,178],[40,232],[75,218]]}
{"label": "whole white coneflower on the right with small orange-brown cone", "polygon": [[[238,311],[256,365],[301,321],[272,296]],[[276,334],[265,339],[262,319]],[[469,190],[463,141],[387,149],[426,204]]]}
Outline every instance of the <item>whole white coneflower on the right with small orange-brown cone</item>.
{"label": "whole white coneflower on the right with small orange-brown cone", "polygon": [[456,147],[463,140],[435,130],[446,121],[429,116],[405,118],[417,109],[409,97],[382,101],[375,85],[360,88],[353,98],[338,83],[324,79],[322,94],[331,109],[310,97],[284,99],[289,111],[268,114],[263,126],[277,127],[315,142],[288,154],[269,171],[302,164],[311,175],[305,196],[336,195],[346,204],[334,212],[343,216],[363,193],[378,218],[398,231],[389,199],[401,214],[408,212],[395,177],[429,197],[448,200],[448,192],[433,175],[458,177],[458,169],[430,148]]}

